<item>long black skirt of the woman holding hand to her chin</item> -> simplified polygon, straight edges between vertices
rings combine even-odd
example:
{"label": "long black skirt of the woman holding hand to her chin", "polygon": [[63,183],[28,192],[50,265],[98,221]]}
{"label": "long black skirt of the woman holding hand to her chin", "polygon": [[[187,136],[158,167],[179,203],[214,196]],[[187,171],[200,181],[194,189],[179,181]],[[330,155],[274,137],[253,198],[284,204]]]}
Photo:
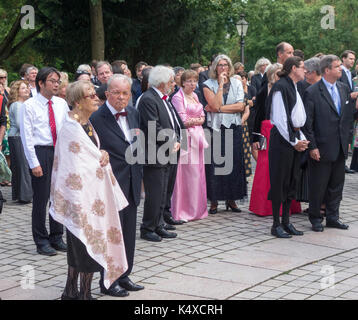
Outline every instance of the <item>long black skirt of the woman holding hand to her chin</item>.
{"label": "long black skirt of the woman holding hand to her chin", "polygon": [[[247,196],[247,184],[245,175],[244,151],[242,140],[242,127],[231,125],[233,132],[232,153],[225,151],[225,130],[227,128],[221,126],[221,156],[226,161],[232,161],[232,170],[226,174],[217,174],[215,169],[227,167],[227,163],[219,164],[218,159],[214,157],[213,130],[211,128],[211,155],[210,164],[205,165],[207,197],[210,201],[218,200],[240,200]],[[206,149],[208,150],[208,149]]]}

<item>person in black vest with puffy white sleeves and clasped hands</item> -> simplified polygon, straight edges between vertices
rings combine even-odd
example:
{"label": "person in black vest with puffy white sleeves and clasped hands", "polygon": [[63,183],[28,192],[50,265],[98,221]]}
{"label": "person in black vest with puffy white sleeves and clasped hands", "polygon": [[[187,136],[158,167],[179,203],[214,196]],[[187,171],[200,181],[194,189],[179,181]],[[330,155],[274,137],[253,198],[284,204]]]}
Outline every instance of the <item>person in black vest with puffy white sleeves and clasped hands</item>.
{"label": "person in black vest with puffy white sleeves and clasped hands", "polygon": [[[270,134],[269,170],[273,226],[271,234],[278,238],[303,235],[289,222],[291,201],[296,195],[300,152],[308,147],[300,128],[306,122],[306,112],[297,82],[304,79],[304,63],[299,57],[288,58],[278,74],[277,81],[268,97],[268,115],[274,127]],[[282,224],[280,207],[282,205]]]}

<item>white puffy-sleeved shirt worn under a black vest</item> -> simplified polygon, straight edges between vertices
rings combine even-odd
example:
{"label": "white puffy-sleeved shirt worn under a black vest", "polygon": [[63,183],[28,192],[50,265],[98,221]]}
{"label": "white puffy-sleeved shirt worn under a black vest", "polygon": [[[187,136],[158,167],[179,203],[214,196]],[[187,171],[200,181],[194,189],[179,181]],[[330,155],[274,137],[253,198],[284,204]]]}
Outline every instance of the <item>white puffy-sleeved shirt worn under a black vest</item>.
{"label": "white puffy-sleeved shirt worn under a black vest", "polygon": [[[296,88],[296,104],[291,112],[291,120],[294,128],[301,128],[306,123],[306,111],[303,105],[300,94]],[[292,146],[295,146],[298,143],[298,139],[295,138],[295,142],[290,141],[290,136],[287,128],[287,114],[285,105],[283,103],[282,94],[280,91],[276,91],[272,97],[271,105],[271,123],[276,126],[277,130],[280,132],[281,136],[289,142]],[[305,135],[300,130],[300,139],[307,140]]]}

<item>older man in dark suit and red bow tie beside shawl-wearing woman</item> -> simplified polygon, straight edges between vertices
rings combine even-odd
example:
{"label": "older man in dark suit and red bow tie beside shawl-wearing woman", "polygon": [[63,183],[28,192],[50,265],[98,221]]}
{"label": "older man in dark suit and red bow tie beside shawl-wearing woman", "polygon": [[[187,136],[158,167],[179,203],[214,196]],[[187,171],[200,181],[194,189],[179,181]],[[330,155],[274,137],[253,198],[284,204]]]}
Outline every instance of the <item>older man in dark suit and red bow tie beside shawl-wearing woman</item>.
{"label": "older man in dark suit and red bow tie beside shawl-wearing woman", "polygon": [[[128,269],[108,290],[103,285],[103,274],[100,280],[101,292],[116,297],[127,296],[127,290],[144,289],[129,279],[133,268],[137,206],[140,202],[142,181],[142,166],[139,163],[130,164],[126,158],[126,151],[133,151],[132,145],[136,142],[136,132],[139,131],[138,111],[128,106],[131,85],[132,80],[125,75],[115,74],[109,78],[107,101],[90,118],[98,134],[101,149],[108,152],[113,174],[129,203],[119,213]],[[136,156],[135,152],[133,153]]]}

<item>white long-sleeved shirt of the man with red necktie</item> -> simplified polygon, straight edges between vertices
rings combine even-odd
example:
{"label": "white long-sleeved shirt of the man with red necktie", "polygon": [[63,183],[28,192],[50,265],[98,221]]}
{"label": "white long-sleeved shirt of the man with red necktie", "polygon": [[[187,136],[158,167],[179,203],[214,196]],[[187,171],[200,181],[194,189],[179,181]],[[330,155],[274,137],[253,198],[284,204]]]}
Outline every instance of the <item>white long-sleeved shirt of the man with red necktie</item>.
{"label": "white long-sleeved shirt of the man with red necktie", "polygon": [[[20,135],[25,156],[31,169],[40,165],[36,156],[35,146],[53,146],[48,101],[47,98],[38,93],[35,97],[27,99],[21,108]],[[53,96],[51,101],[58,136],[69,108],[62,98]]]}

